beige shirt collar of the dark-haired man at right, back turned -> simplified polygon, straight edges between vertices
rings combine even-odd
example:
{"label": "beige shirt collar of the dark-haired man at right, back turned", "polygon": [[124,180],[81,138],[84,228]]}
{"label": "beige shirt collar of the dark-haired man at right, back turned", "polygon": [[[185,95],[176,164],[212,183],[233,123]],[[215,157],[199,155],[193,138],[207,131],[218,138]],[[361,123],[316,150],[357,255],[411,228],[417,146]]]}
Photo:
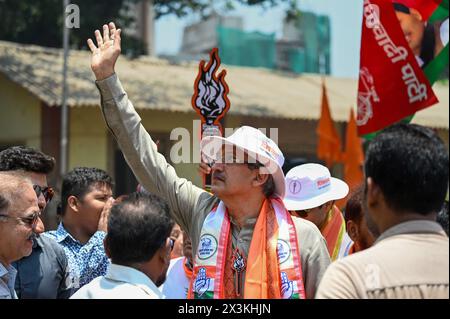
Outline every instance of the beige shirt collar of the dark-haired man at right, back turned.
{"label": "beige shirt collar of the dark-haired man at right, back turned", "polygon": [[392,226],[378,237],[375,243],[402,234],[436,234],[445,236],[441,225],[430,220],[412,220]]}

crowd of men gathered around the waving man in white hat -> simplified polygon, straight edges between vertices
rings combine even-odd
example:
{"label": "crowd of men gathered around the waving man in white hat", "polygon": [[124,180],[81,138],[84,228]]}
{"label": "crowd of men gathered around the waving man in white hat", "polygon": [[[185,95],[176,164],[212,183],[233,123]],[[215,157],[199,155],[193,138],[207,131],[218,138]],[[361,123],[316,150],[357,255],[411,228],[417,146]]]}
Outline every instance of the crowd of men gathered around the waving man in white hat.
{"label": "crowd of men gathered around the waving man in white hat", "polygon": [[177,176],[141,124],[115,73],[120,29],[95,36],[102,114],[140,186],[114,199],[108,173],[75,168],[45,231],[55,160],[2,151],[0,298],[449,298],[449,159],[431,129],[380,132],[351,193],[319,164],[285,176],[255,128],[204,137],[208,192]]}

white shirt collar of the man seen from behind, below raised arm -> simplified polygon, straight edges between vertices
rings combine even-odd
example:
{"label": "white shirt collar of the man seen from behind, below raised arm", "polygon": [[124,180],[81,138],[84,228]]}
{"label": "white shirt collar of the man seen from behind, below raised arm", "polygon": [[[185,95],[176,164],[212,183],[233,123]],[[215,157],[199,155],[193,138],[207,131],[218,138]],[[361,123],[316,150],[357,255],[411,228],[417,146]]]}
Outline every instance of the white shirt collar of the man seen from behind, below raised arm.
{"label": "white shirt collar of the man seen from behind, below raised arm", "polygon": [[129,283],[134,286],[141,288],[145,293],[149,295],[157,295],[159,298],[163,298],[162,293],[156,287],[156,285],[147,277],[143,272],[117,264],[110,264],[105,278],[119,281],[124,283]]}

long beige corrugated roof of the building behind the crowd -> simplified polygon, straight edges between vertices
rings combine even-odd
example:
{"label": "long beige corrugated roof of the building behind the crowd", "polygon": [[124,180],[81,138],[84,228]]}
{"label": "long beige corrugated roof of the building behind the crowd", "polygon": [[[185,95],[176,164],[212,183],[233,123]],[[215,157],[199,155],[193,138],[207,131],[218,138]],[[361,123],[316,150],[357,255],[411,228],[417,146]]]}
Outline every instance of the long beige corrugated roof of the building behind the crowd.
{"label": "long beige corrugated roof of the building behind the crowd", "polygon": [[[0,41],[0,72],[50,106],[61,104],[61,49]],[[99,104],[90,69],[89,51],[70,51],[68,70],[70,106]],[[315,120],[320,116],[321,76],[224,66],[233,114]],[[198,64],[172,65],[155,58],[121,56],[116,71],[136,108],[193,112],[190,100]],[[356,105],[358,81],[325,77],[335,121],[346,122]],[[416,114],[415,123],[437,128],[449,126],[448,84],[436,84],[439,104]]]}

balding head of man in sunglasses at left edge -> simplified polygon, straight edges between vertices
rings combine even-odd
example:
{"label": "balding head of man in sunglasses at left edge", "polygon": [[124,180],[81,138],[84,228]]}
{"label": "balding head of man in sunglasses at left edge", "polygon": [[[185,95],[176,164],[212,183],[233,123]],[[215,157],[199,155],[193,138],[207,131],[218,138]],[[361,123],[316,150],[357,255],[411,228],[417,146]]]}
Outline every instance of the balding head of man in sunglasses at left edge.
{"label": "balding head of man in sunglasses at left edge", "polygon": [[21,174],[0,172],[0,262],[31,254],[40,210],[33,184]]}

